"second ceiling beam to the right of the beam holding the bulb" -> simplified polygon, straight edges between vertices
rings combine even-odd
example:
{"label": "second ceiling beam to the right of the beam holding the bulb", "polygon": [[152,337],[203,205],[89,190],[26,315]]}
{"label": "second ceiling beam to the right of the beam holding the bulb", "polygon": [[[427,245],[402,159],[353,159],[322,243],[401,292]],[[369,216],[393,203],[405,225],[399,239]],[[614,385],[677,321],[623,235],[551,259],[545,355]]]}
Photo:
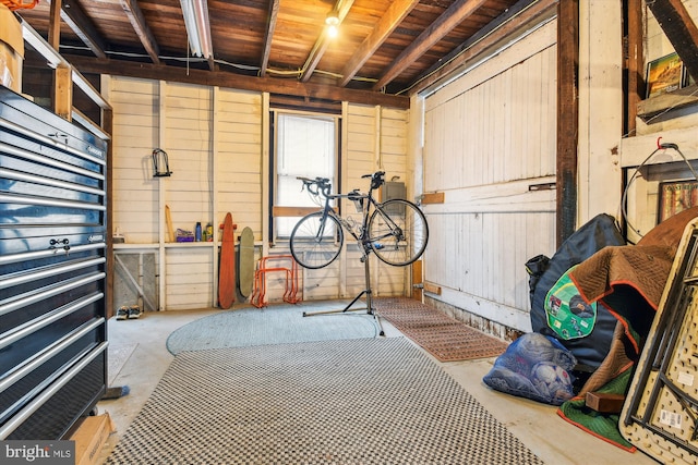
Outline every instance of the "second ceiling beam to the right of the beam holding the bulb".
{"label": "second ceiling beam to the right of the beam holding the bulb", "polygon": [[444,38],[454,27],[470,16],[485,0],[456,0],[436,21],[426,27],[387,68],[383,76],[373,85],[380,90],[396,78],[410,64],[424,54],[434,44]]}

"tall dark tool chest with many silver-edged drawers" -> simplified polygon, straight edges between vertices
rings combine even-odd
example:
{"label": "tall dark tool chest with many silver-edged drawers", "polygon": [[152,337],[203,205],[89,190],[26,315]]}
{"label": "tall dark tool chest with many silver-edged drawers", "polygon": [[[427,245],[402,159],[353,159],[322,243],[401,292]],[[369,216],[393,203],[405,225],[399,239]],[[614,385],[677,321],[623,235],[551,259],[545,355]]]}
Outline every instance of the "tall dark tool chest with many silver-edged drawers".
{"label": "tall dark tool chest with many silver-edged drawers", "polygon": [[106,152],[0,86],[0,440],[64,439],[105,392]]}

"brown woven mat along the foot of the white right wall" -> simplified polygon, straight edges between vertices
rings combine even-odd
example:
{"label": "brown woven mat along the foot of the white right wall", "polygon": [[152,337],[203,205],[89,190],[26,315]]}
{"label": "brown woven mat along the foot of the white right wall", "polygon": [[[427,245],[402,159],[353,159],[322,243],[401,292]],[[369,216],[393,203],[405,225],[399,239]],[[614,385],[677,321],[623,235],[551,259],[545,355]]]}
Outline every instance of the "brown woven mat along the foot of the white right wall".
{"label": "brown woven mat along the foot of the white right wall", "polygon": [[375,298],[376,313],[440,362],[496,357],[507,343],[411,298]]}

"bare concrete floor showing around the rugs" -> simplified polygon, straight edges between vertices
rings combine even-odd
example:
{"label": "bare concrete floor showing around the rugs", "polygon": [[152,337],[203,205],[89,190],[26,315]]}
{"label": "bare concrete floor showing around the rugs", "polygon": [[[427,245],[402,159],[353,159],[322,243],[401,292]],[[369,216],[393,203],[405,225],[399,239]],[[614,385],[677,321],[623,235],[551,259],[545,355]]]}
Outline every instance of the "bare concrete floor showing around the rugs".
{"label": "bare concrete floor showing around the rugs", "polygon": [[[337,304],[333,304],[329,308],[337,307]],[[310,310],[313,311],[315,308]],[[137,345],[111,383],[112,387],[128,386],[130,393],[118,400],[101,401],[97,405],[99,413],[109,413],[117,428],[103,450],[100,457],[103,463],[172,362],[173,356],[166,347],[168,335],[190,321],[219,311],[219,309],[203,309],[147,313],[137,320],[117,321],[113,318],[109,320],[110,344],[113,346]],[[366,316],[366,318],[371,317]],[[387,338],[401,336],[400,332],[387,321],[382,320],[382,322]],[[482,382],[482,377],[491,369],[493,363],[494,358],[488,358],[438,363],[438,365],[545,463],[554,465],[657,464],[653,458],[640,451],[626,452],[568,424],[556,415],[555,406],[491,390]]]}

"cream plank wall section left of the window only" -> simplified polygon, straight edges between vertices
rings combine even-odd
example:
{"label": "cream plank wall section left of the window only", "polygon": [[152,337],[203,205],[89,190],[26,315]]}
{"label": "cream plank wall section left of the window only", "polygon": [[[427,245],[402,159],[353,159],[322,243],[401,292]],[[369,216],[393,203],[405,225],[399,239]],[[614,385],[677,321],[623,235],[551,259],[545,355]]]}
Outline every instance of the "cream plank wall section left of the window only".
{"label": "cream plank wall section left of the window only", "polygon": [[[213,95],[213,88],[203,86],[164,83],[160,87],[157,82],[110,79],[109,98],[115,107],[115,225],[129,243],[158,243],[160,229],[165,228],[159,224],[160,188],[164,203],[171,208],[174,228],[193,230],[196,221],[202,225],[212,222],[218,236],[218,223],[236,206],[240,230],[250,225],[261,238],[261,96],[228,89],[220,90],[214,102]],[[222,140],[216,151],[214,106],[218,111],[216,140]],[[159,109],[164,109],[163,114]],[[164,140],[159,140],[160,134]],[[160,144],[173,174],[153,179],[151,152]],[[220,168],[216,187],[214,157]],[[213,210],[214,188],[220,189],[216,192],[217,215]],[[160,250],[165,253],[164,306],[182,309],[215,305],[217,248],[210,244],[167,246]]]}

